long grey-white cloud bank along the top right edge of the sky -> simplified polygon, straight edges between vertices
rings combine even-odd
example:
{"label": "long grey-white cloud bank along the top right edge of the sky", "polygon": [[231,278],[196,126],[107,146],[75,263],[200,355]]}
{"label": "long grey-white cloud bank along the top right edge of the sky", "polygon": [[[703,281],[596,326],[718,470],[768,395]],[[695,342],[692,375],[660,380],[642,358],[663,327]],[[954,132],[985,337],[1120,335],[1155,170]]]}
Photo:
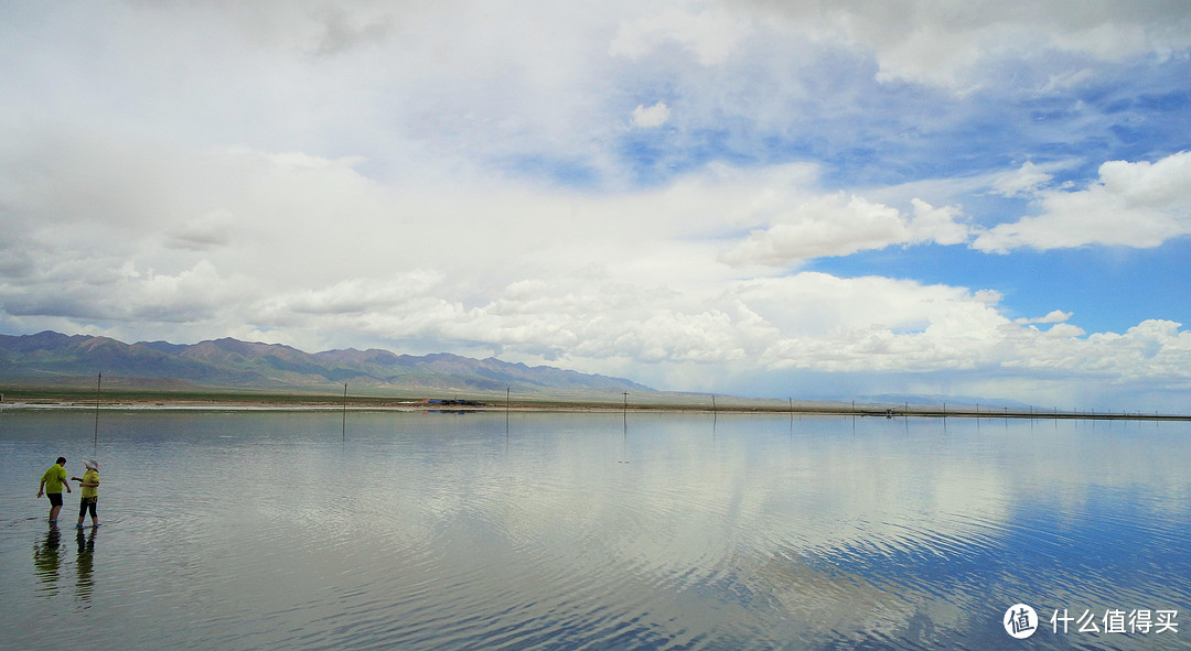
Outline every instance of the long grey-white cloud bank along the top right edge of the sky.
{"label": "long grey-white cloud bank along the top right edge of the sky", "polygon": [[[977,0],[961,11],[927,0],[880,5],[729,0],[654,13],[650,8],[646,5],[646,17],[621,24],[610,48],[613,55],[641,58],[673,44],[703,65],[717,65],[750,35],[781,25],[786,33],[813,42],[849,43],[871,51],[879,81],[961,90],[979,86],[974,73],[980,67],[1010,60],[1071,54],[1120,61],[1145,54],[1170,56],[1191,46],[1191,10],[1159,0],[1128,6]],[[1070,81],[1078,74],[1077,69],[1058,76]]]}

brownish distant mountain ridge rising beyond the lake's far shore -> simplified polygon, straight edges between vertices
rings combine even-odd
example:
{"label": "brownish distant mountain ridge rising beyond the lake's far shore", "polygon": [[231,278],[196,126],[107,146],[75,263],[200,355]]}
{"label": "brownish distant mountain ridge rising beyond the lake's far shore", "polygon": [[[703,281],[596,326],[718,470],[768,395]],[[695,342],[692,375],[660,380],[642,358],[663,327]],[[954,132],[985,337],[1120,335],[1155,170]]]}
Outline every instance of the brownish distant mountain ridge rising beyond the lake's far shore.
{"label": "brownish distant mountain ridge rising beyond the lake's far shore", "polygon": [[554,367],[528,367],[494,357],[450,353],[397,355],[387,350],[305,352],[281,344],[224,338],[198,344],[138,342],[108,337],[0,334],[0,380],[63,383],[82,377],[135,380],[146,386],[313,389],[328,384],[424,392],[520,393],[653,392],[621,377]]}

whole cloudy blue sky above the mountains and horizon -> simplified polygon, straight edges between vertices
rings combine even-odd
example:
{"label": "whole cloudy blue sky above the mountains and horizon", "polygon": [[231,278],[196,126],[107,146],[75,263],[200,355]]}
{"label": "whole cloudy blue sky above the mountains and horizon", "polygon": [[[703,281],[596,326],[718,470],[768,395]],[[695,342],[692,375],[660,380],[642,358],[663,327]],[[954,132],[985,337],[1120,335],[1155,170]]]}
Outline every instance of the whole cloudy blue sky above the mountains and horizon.
{"label": "whole cloudy blue sky above the mountains and horizon", "polygon": [[1191,4],[0,4],[0,333],[1191,413]]}

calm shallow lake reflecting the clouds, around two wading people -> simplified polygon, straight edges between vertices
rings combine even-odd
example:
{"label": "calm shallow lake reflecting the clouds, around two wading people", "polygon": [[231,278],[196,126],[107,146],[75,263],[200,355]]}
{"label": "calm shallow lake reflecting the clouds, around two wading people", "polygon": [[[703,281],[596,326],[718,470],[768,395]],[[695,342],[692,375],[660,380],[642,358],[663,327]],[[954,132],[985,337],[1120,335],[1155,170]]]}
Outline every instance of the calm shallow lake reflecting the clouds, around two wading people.
{"label": "calm shallow lake reflecting the clouds, around two wading people", "polygon": [[345,418],[0,413],[0,646],[1191,645],[1191,424]]}

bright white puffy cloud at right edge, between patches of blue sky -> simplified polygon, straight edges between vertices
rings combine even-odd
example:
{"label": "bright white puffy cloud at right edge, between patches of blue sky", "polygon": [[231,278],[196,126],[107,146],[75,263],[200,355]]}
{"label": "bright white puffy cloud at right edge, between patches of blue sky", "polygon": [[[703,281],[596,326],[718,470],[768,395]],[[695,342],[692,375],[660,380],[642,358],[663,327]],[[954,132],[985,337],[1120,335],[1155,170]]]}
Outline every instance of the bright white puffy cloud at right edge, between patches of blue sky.
{"label": "bright white puffy cloud at right edge, between patches of blue sky", "polygon": [[1151,163],[1110,161],[1077,190],[1035,193],[1040,213],[983,232],[983,251],[1062,249],[1087,244],[1153,248],[1191,233],[1191,152]]}

